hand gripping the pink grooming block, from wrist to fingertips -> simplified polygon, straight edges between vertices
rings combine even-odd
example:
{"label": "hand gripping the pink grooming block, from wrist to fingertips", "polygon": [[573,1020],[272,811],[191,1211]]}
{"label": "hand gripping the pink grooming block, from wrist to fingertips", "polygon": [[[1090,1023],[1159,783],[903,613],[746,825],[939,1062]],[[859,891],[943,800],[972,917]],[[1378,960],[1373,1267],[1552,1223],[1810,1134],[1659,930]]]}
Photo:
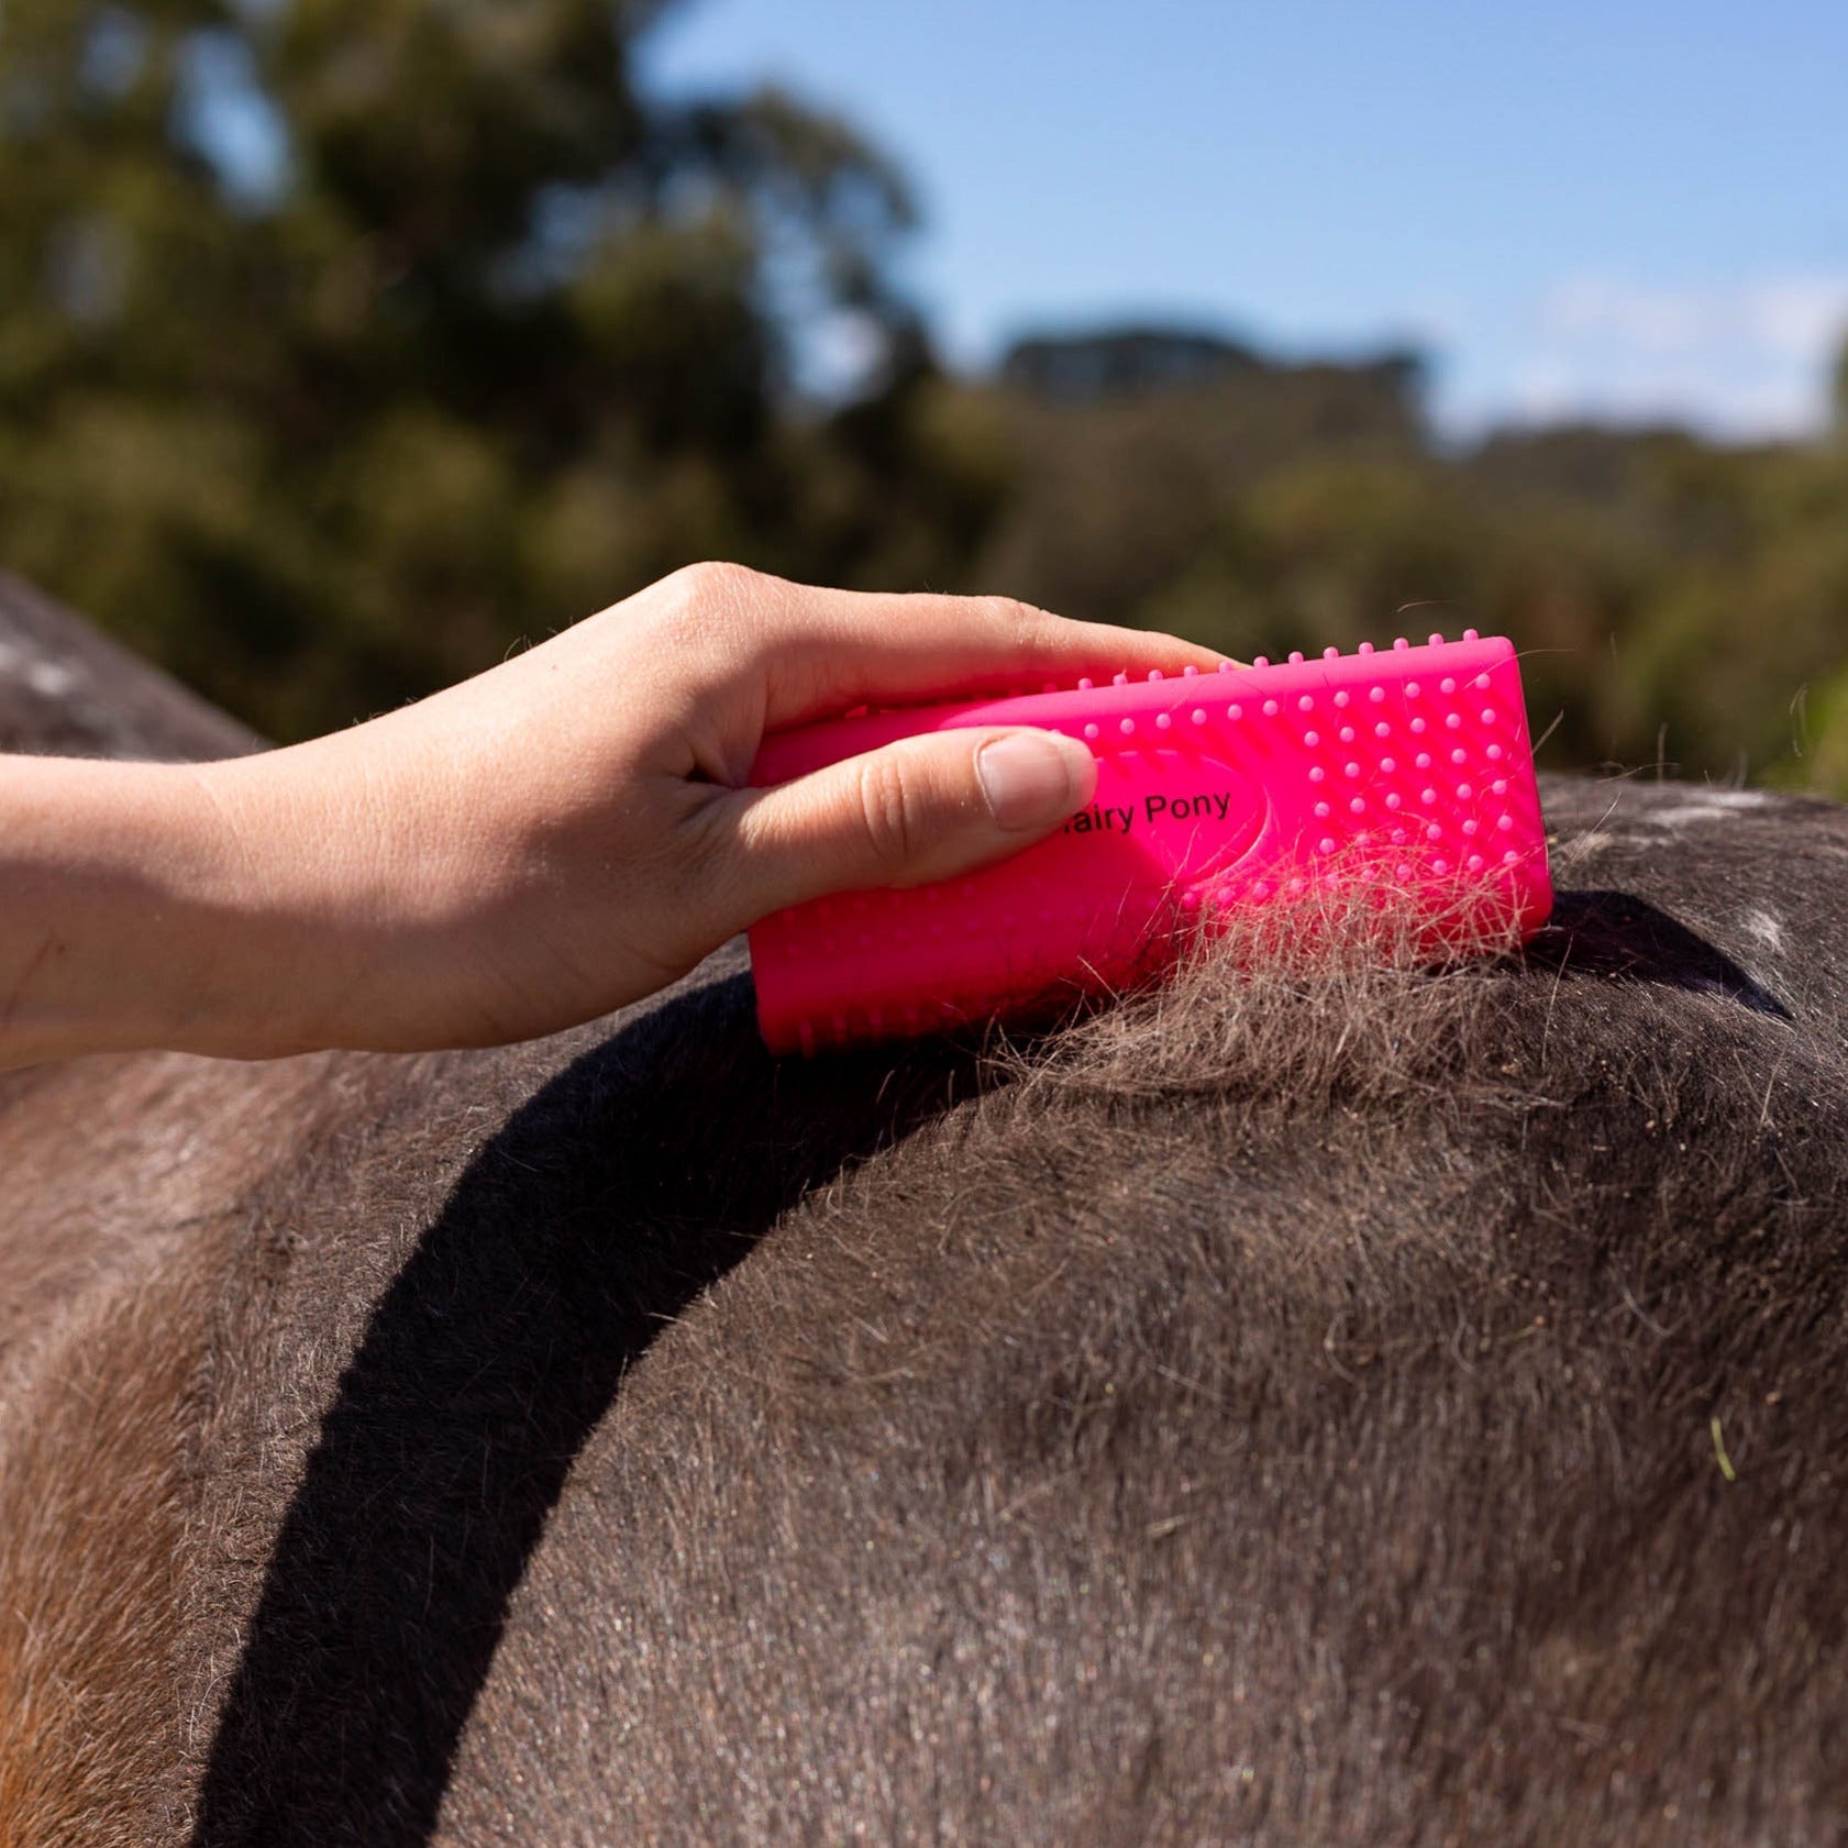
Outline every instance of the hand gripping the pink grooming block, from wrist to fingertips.
{"label": "hand gripping the pink grooming block, from wrist to fingertips", "polygon": [[111,1042],[407,1050],[608,1013],[782,906],[1016,852],[1096,780],[1077,741],[1013,728],[906,739],[750,789],[767,730],[1218,662],[1002,599],[697,565],[349,732],[213,765],[107,767],[179,778],[190,798],[176,861],[190,870],[177,893],[155,876],[190,930],[176,967],[192,992],[155,991],[164,1018],[124,1018]]}

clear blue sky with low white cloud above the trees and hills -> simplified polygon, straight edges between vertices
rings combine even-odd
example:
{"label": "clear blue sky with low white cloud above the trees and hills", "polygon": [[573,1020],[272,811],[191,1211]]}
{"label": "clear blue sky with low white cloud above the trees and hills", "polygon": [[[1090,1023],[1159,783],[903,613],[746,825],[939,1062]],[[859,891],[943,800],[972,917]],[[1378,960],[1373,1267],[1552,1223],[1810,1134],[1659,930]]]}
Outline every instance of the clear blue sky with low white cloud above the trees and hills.
{"label": "clear blue sky with low white cloud above the trees and hills", "polygon": [[917,185],[950,355],[1116,316],[1416,340],[1453,431],[1815,429],[1848,331],[1848,0],[684,0]]}

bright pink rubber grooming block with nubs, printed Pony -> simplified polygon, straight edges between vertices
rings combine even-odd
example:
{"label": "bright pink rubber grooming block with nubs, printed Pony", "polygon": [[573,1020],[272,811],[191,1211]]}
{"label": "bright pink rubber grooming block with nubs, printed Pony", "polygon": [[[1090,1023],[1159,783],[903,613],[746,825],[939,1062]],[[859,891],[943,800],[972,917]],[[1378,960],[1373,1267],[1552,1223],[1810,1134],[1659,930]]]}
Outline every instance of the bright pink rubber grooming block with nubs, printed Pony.
{"label": "bright pink rubber grooming block with nubs, printed Pony", "polygon": [[763,918],[750,963],[772,1052],[1111,992],[1234,907],[1318,889],[1403,893],[1440,939],[1525,939],[1552,909],[1521,669],[1512,643],[1473,628],[1416,649],[863,713],[767,737],[752,782],[991,724],[1085,739],[1090,806],[981,872]]}

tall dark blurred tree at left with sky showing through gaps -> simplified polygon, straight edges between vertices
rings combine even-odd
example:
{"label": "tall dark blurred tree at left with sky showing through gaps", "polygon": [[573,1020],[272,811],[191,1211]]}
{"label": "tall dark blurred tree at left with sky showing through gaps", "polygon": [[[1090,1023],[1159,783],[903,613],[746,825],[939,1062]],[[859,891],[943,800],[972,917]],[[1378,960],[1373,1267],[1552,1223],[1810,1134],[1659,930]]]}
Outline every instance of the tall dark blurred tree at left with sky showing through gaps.
{"label": "tall dark blurred tree at left with sky showing through gaps", "polygon": [[[774,91],[645,94],[663,9],[4,0],[0,560],[277,736],[708,553],[952,573],[992,482],[904,185]],[[850,425],[784,414],[826,316],[887,353]]]}

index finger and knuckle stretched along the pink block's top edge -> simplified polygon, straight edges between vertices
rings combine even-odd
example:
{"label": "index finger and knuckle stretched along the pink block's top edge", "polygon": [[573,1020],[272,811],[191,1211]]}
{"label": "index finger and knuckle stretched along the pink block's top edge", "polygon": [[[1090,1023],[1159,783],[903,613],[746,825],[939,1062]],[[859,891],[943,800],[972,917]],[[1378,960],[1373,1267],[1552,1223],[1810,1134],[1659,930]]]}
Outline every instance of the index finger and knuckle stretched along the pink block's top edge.
{"label": "index finger and knuckle stretched along the pink block's top edge", "polygon": [[667,586],[689,599],[699,632],[750,650],[765,676],[767,730],[861,704],[1039,691],[1081,675],[1210,673],[1225,660],[1173,636],[1074,623],[1009,597],[817,590],[736,565],[697,565]]}

